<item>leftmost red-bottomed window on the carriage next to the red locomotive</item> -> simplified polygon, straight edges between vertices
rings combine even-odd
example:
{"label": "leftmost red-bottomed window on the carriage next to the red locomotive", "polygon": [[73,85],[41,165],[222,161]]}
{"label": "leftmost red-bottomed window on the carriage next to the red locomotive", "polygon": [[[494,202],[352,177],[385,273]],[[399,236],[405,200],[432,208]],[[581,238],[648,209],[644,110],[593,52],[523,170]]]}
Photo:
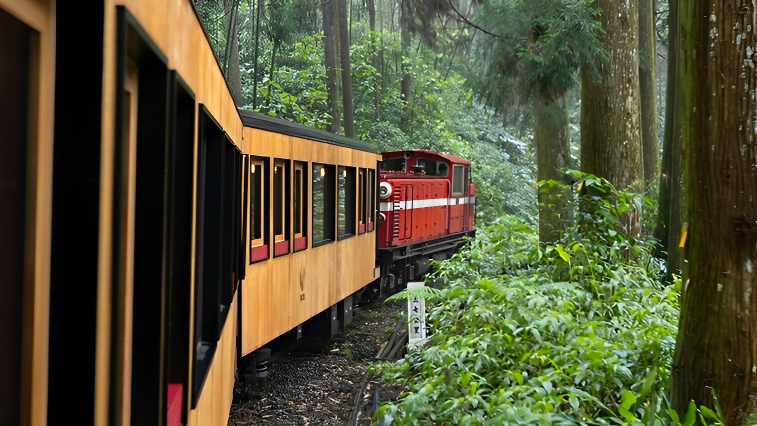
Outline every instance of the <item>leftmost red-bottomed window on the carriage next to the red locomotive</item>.
{"label": "leftmost red-bottomed window on the carriage next to the red locomotive", "polygon": [[268,238],[265,230],[268,210],[264,201],[267,199],[266,169],[267,160],[250,157],[250,263],[268,259]]}

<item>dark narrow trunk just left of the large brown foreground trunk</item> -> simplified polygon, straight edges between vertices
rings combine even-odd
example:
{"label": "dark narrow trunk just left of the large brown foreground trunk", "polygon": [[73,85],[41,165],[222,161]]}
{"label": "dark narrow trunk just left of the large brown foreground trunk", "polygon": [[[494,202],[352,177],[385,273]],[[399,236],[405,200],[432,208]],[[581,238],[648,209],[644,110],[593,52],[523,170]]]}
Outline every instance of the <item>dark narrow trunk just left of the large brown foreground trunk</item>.
{"label": "dark narrow trunk just left of the large brown foreground trunk", "polygon": [[[662,139],[662,164],[660,169],[660,194],[658,214],[653,232],[659,241],[656,257],[668,259],[668,281],[671,272],[679,273],[681,258],[678,255],[679,229],[681,225],[681,126],[680,85],[678,81],[678,0],[668,2],[668,71],[665,79],[665,134]],[[678,121],[677,121],[678,120]],[[674,126],[678,123],[678,126]],[[673,196],[675,194],[675,196]],[[672,212],[675,214],[671,216]]]}

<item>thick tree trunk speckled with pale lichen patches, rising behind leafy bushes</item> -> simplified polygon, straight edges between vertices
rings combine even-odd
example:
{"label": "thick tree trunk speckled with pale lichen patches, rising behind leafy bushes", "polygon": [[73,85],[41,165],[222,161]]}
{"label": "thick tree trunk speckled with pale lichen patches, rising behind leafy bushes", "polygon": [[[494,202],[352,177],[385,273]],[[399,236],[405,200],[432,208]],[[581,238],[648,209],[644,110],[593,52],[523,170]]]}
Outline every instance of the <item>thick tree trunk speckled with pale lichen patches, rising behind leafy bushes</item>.
{"label": "thick tree trunk speckled with pale lichen patches, rising behind leafy bushes", "polygon": [[[609,60],[581,82],[581,168],[620,190],[643,188],[636,2],[597,0]],[[640,211],[624,217],[626,235],[640,233]]]}

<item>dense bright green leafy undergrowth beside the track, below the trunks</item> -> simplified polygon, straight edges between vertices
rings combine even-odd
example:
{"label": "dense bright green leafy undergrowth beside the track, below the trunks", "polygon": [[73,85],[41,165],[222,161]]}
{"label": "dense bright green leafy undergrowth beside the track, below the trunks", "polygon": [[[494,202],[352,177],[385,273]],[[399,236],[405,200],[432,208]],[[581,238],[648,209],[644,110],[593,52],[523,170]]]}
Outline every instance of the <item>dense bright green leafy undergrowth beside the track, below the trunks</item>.
{"label": "dense bright green leafy undergrowth beside the track, below the trunks", "polygon": [[680,282],[662,281],[653,241],[619,219],[648,201],[572,173],[584,195],[560,241],[503,216],[435,265],[446,285],[425,292],[430,337],[377,365],[405,390],[375,424],[718,423],[668,408]]}

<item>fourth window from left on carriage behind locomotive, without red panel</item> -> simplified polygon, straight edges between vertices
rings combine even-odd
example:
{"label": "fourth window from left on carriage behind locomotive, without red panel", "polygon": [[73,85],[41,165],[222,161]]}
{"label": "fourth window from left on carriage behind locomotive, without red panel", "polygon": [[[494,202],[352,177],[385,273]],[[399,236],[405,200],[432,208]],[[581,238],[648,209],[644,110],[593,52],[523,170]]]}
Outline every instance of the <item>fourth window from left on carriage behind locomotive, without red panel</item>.
{"label": "fourth window from left on carriage behind locomotive, without red panel", "polygon": [[313,164],[313,246],[334,241],[334,166]]}

